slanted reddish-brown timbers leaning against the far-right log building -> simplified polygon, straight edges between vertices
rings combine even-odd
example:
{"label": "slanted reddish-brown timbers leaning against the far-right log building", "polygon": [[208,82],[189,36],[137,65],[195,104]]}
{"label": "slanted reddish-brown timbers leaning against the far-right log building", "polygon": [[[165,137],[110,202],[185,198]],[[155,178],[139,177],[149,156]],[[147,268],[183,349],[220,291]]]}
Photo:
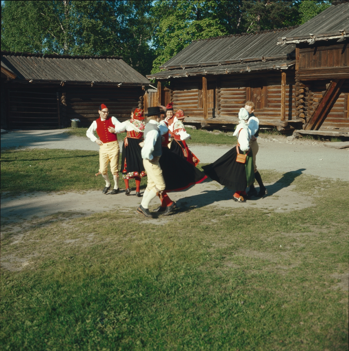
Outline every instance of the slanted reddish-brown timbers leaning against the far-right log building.
{"label": "slanted reddish-brown timbers leaning against the far-right log building", "polygon": [[327,89],[326,94],[322,98],[320,104],[317,106],[309,124],[305,126],[304,130],[318,130],[323,120],[326,118],[327,113],[331,107],[332,102],[337,100],[340,94],[341,87],[345,79],[334,79]]}

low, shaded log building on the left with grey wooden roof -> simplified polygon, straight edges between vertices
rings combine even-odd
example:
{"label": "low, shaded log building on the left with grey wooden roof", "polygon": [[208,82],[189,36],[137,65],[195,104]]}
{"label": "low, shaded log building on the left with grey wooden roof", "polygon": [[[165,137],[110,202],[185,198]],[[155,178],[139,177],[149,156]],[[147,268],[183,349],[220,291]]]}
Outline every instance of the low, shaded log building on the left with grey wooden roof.
{"label": "low, shaded log building on the left with grey wooden roof", "polygon": [[120,57],[1,52],[1,128],[89,126],[102,103],[123,121],[149,83]]}

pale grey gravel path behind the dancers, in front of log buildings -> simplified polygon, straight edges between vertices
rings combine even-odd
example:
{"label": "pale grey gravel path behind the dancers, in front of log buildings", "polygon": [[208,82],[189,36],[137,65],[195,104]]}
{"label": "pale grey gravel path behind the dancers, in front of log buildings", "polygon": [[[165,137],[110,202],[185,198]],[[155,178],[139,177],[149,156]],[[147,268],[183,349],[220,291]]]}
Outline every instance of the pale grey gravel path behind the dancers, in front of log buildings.
{"label": "pale grey gravel path behind the dancers, in front of log buildings", "polygon": [[[122,142],[119,143],[120,148]],[[332,149],[324,143],[302,139],[289,142],[279,135],[258,138],[257,167],[280,172],[302,171],[315,176],[349,180],[349,148]],[[99,146],[87,137],[75,137],[62,130],[15,131],[1,134],[1,147],[62,148],[98,151]],[[227,152],[230,146],[190,145],[202,163],[211,163]]]}

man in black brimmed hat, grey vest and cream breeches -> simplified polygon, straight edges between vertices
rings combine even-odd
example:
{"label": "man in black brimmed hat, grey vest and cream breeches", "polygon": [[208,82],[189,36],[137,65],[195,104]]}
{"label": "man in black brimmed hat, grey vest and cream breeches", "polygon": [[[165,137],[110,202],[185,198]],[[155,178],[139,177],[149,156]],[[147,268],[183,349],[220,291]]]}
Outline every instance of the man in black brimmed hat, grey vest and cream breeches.
{"label": "man in black brimmed hat, grey vest and cream breeches", "polygon": [[[144,128],[144,146],[142,147],[141,154],[143,166],[147,172],[148,183],[143,193],[141,205],[137,208],[137,212],[146,217],[153,217],[149,212],[149,203],[157,195],[161,196],[162,191],[166,188],[159,164],[162,153],[161,134],[164,134],[166,131],[163,130],[163,126],[160,127],[161,110],[159,106],[148,107],[148,113],[145,115],[148,116],[148,123]],[[175,203],[168,206],[164,215],[170,213],[175,206]]]}

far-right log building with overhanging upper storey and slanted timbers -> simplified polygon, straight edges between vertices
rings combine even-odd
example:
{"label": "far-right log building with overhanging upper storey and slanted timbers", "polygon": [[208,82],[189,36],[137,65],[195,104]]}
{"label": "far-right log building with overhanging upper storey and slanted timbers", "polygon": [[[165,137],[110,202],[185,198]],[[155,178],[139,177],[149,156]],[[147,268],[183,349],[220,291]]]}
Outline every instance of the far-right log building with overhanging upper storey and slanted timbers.
{"label": "far-right log building with overhanging upper storey and slanted timbers", "polygon": [[349,137],[349,1],[332,5],[278,38],[296,45],[296,118],[300,134]]}

